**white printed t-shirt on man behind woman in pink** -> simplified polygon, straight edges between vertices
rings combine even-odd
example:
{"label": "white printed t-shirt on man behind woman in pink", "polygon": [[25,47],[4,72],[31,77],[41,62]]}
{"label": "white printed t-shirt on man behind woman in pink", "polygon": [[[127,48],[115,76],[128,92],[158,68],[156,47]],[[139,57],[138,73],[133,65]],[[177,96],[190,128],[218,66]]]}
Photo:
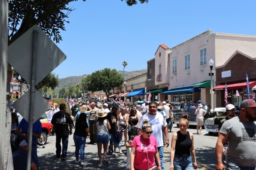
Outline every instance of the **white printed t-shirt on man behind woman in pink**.
{"label": "white printed t-shirt on man behind woman in pink", "polygon": [[162,127],[166,127],[166,121],[164,119],[164,115],[162,115],[161,113],[156,113],[155,115],[150,115],[149,113],[146,113],[144,115],[142,115],[139,124],[138,124],[138,128],[142,129],[142,125],[143,125],[143,120],[147,119],[149,120],[149,124],[152,127],[152,135],[156,138],[157,141],[157,146],[158,147],[162,147],[164,146],[164,142],[163,142],[163,131],[162,131]]}

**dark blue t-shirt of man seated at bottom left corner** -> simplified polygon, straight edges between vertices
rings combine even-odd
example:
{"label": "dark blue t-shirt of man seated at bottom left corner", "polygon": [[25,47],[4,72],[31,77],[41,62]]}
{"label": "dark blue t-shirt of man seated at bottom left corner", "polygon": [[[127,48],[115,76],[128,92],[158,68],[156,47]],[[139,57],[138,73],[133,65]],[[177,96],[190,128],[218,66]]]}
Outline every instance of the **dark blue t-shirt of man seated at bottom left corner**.
{"label": "dark blue t-shirt of man seated at bottom left corner", "polygon": [[[12,161],[14,170],[26,170],[27,169],[27,155],[28,152],[24,150],[18,149],[12,153]],[[33,163],[33,159],[31,158],[30,164]]]}

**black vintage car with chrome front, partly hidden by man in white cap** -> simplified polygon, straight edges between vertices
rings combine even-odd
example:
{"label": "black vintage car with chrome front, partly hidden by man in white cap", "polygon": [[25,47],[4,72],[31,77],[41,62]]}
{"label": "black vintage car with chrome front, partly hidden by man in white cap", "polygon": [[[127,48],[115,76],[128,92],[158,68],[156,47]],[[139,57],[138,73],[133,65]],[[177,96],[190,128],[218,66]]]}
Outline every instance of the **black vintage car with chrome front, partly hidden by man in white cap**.
{"label": "black vintage car with chrome front, partly hidden by man in white cap", "polygon": [[216,113],[217,117],[211,117],[206,119],[206,131],[208,131],[209,135],[212,135],[214,132],[219,132],[218,127],[221,119],[227,116],[225,107],[217,107],[214,109],[214,113]]}

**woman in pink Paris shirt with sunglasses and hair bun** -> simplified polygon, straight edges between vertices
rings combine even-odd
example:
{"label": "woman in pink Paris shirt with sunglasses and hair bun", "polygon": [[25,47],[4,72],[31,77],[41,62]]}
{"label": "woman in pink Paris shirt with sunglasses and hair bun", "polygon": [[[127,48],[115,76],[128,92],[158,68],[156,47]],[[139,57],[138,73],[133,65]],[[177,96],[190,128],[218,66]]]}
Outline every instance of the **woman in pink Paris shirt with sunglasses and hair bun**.
{"label": "woman in pink Paris shirt with sunglasses and hair bun", "polygon": [[[156,138],[151,136],[152,128],[148,120],[144,120],[142,125],[142,134],[135,137],[132,141],[132,150],[130,154],[131,170],[148,170],[148,166],[155,166],[155,157],[158,162],[158,170],[162,170],[159,152],[157,150]],[[148,158],[147,153],[148,152]]]}

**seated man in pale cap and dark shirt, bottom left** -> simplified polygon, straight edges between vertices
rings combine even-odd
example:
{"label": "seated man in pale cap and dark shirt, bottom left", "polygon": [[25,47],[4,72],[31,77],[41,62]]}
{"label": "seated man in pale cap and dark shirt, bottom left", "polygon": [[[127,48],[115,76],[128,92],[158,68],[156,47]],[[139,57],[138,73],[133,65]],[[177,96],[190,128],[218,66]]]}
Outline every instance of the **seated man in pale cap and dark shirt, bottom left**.
{"label": "seated man in pale cap and dark shirt, bottom left", "polygon": [[[12,153],[12,160],[13,160],[13,168],[14,170],[26,170],[27,169],[27,155],[28,155],[28,143],[23,140],[20,143],[20,148]],[[32,158],[30,169],[37,170],[36,165]]]}

